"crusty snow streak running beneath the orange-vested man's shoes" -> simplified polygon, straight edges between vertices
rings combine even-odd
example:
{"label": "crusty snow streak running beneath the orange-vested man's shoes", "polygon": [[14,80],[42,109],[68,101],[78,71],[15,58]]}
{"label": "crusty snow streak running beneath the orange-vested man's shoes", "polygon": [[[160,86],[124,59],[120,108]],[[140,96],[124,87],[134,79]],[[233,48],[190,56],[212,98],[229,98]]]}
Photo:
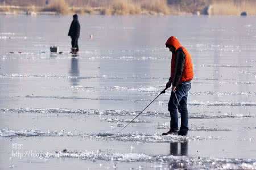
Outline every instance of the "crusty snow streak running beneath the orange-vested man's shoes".
{"label": "crusty snow streak running beneath the orange-vested man's shoes", "polygon": [[[220,140],[220,137],[200,137],[200,136],[177,136],[162,134],[148,134],[139,132],[129,133],[113,133],[113,132],[100,132],[100,133],[82,133],[80,131],[49,131],[49,130],[0,130],[1,137],[81,137],[95,140],[104,141],[129,141],[129,142],[144,142],[144,143],[163,143],[163,142],[187,142],[187,141],[201,141],[201,140]],[[254,139],[251,139],[254,140]]]}

